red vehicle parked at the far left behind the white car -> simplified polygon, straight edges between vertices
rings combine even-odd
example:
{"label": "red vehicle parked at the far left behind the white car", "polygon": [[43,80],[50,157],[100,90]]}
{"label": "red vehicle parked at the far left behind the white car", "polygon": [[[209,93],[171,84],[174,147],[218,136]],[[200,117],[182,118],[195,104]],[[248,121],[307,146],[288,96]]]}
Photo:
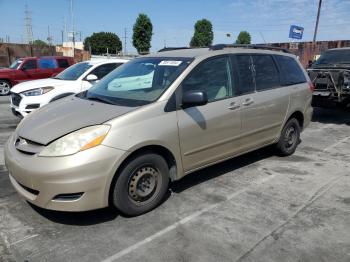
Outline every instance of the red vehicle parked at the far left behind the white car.
{"label": "red vehicle parked at the far left behind the white car", "polygon": [[0,69],[0,95],[8,95],[11,87],[28,80],[49,78],[74,64],[72,57],[42,56],[17,59],[10,68]]}

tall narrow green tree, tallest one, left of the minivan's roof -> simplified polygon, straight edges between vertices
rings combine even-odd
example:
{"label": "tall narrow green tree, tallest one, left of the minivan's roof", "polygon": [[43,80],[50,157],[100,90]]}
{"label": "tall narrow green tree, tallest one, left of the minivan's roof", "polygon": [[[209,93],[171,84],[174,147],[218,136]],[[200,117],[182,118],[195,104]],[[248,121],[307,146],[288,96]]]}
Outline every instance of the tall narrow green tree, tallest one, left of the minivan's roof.
{"label": "tall narrow green tree, tallest one, left of the minivan's roof", "polygon": [[145,14],[139,14],[133,27],[132,44],[139,54],[149,53],[153,34],[151,20]]}

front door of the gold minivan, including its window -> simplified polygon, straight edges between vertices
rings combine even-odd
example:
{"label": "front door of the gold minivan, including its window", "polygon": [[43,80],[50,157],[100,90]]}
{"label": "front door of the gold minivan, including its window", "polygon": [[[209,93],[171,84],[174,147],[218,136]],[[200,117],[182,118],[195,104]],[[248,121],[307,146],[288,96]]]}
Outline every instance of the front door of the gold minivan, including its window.
{"label": "front door of the gold minivan, including its window", "polygon": [[179,92],[205,91],[208,104],[177,111],[184,171],[229,157],[241,130],[239,99],[234,97],[231,62],[218,56],[197,65]]}

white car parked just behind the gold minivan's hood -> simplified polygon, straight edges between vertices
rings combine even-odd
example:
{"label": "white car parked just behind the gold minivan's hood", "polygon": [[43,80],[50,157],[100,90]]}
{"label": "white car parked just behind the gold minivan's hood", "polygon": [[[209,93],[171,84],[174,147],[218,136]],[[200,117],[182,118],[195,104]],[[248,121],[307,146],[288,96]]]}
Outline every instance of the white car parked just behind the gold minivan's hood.
{"label": "white car parked just behind the gold minivan's hood", "polygon": [[11,89],[11,108],[14,115],[25,117],[30,112],[57,99],[89,89],[126,59],[90,60],[74,64],[53,78],[33,80]]}

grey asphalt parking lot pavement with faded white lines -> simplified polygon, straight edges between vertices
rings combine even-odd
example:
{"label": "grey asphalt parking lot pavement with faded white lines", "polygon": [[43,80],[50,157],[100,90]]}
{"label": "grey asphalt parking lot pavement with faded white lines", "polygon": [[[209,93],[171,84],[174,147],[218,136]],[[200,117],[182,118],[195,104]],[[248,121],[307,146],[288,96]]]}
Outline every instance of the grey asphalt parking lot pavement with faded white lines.
{"label": "grey asphalt parking lot pavement with faded white lines", "polygon": [[350,261],[350,112],[315,109],[290,157],[271,148],[173,183],[157,209],[43,210],[15,192],[0,97],[0,261]]}

